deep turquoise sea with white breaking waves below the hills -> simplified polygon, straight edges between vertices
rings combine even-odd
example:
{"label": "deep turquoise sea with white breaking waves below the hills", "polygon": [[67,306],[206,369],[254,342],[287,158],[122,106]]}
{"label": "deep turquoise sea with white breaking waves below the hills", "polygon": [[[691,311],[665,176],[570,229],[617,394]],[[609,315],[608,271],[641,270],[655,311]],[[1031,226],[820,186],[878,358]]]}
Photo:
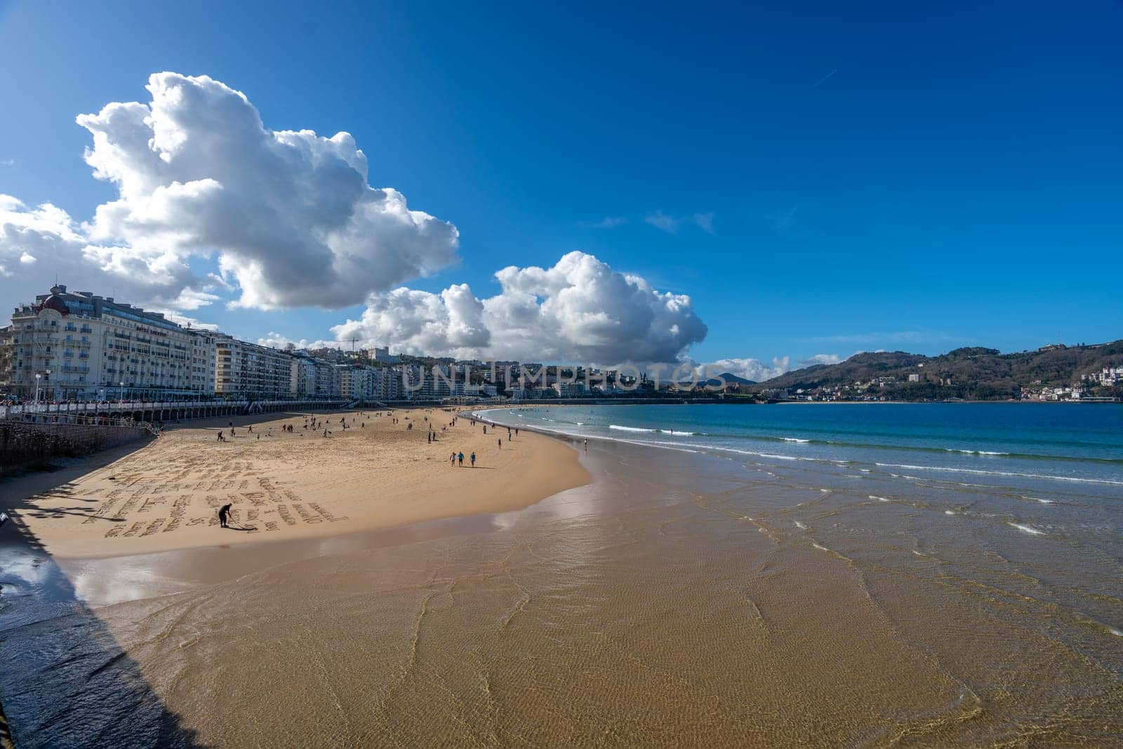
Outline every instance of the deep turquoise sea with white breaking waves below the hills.
{"label": "deep turquoise sea with white breaking waves below the hills", "polygon": [[[989,482],[1123,487],[1123,408],[1020,403],[595,405],[496,421],[652,448],[852,464]],[[977,481],[977,478],[976,478]],[[1114,490],[1119,493],[1119,490]]]}

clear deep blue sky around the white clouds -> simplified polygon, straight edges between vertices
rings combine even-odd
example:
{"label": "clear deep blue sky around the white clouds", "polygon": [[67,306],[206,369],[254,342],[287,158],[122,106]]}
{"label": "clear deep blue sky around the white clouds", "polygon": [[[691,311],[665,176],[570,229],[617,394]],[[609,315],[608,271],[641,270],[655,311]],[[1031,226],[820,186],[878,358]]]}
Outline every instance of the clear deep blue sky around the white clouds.
{"label": "clear deep blue sky around the white clouds", "polygon": [[[700,362],[1123,337],[1120,3],[232,4],[0,0],[0,193],[90,219],[74,117],[206,74],[456,225],[412,289],[579,249],[688,294]],[[192,314],[363,312],[232,296]]]}

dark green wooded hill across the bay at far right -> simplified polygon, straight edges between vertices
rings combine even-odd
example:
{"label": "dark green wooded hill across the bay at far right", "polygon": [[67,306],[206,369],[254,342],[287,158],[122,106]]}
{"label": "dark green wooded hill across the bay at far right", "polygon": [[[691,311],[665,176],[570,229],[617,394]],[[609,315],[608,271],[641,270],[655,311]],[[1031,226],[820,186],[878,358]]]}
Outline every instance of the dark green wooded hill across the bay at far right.
{"label": "dark green wooded hill across the bay at far right", "polygon": [[[1017,398],[1022,387],[1062,386],[1105,366],[1123,366],[1123,340],[1095,346],[1048,346],[1035,351],[1001,354],[994,348],[957,348],[940,356],[904,351],[855,354],[839,364],[816,365],[759,383],[755,390],[819,389],[884,378],[878,393],[894,400]],[[916,375],[916,382],[909,382]],[[1104,389],[1103,394],[1117,394]]]}

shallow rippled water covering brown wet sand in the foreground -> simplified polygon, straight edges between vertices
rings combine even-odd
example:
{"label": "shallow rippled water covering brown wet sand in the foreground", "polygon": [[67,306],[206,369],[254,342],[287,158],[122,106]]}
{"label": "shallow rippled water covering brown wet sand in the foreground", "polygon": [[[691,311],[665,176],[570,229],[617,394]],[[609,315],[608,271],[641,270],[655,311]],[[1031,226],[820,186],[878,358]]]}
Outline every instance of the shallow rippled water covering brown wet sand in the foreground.
{"label": "shallow rippled water covering brown wet sand in the foreground", "polygon": [[1123,741],[1111,484],[684,449],[591,441],[594,484],[519,512],[6,587],[17,746],[90,746],[137,689],[181,746]]}

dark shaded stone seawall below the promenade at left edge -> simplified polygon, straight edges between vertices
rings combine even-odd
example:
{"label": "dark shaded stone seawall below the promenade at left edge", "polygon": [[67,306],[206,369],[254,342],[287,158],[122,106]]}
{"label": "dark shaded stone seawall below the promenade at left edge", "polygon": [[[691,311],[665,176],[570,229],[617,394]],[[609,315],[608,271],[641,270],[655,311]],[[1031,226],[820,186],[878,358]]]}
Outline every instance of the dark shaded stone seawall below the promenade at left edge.
{"label": "dark shaded stone seawall below the promenade at left edge", "polygon": [[140,426],[0,421],[0,474],[54,458],[82,457],[150,433]]}

